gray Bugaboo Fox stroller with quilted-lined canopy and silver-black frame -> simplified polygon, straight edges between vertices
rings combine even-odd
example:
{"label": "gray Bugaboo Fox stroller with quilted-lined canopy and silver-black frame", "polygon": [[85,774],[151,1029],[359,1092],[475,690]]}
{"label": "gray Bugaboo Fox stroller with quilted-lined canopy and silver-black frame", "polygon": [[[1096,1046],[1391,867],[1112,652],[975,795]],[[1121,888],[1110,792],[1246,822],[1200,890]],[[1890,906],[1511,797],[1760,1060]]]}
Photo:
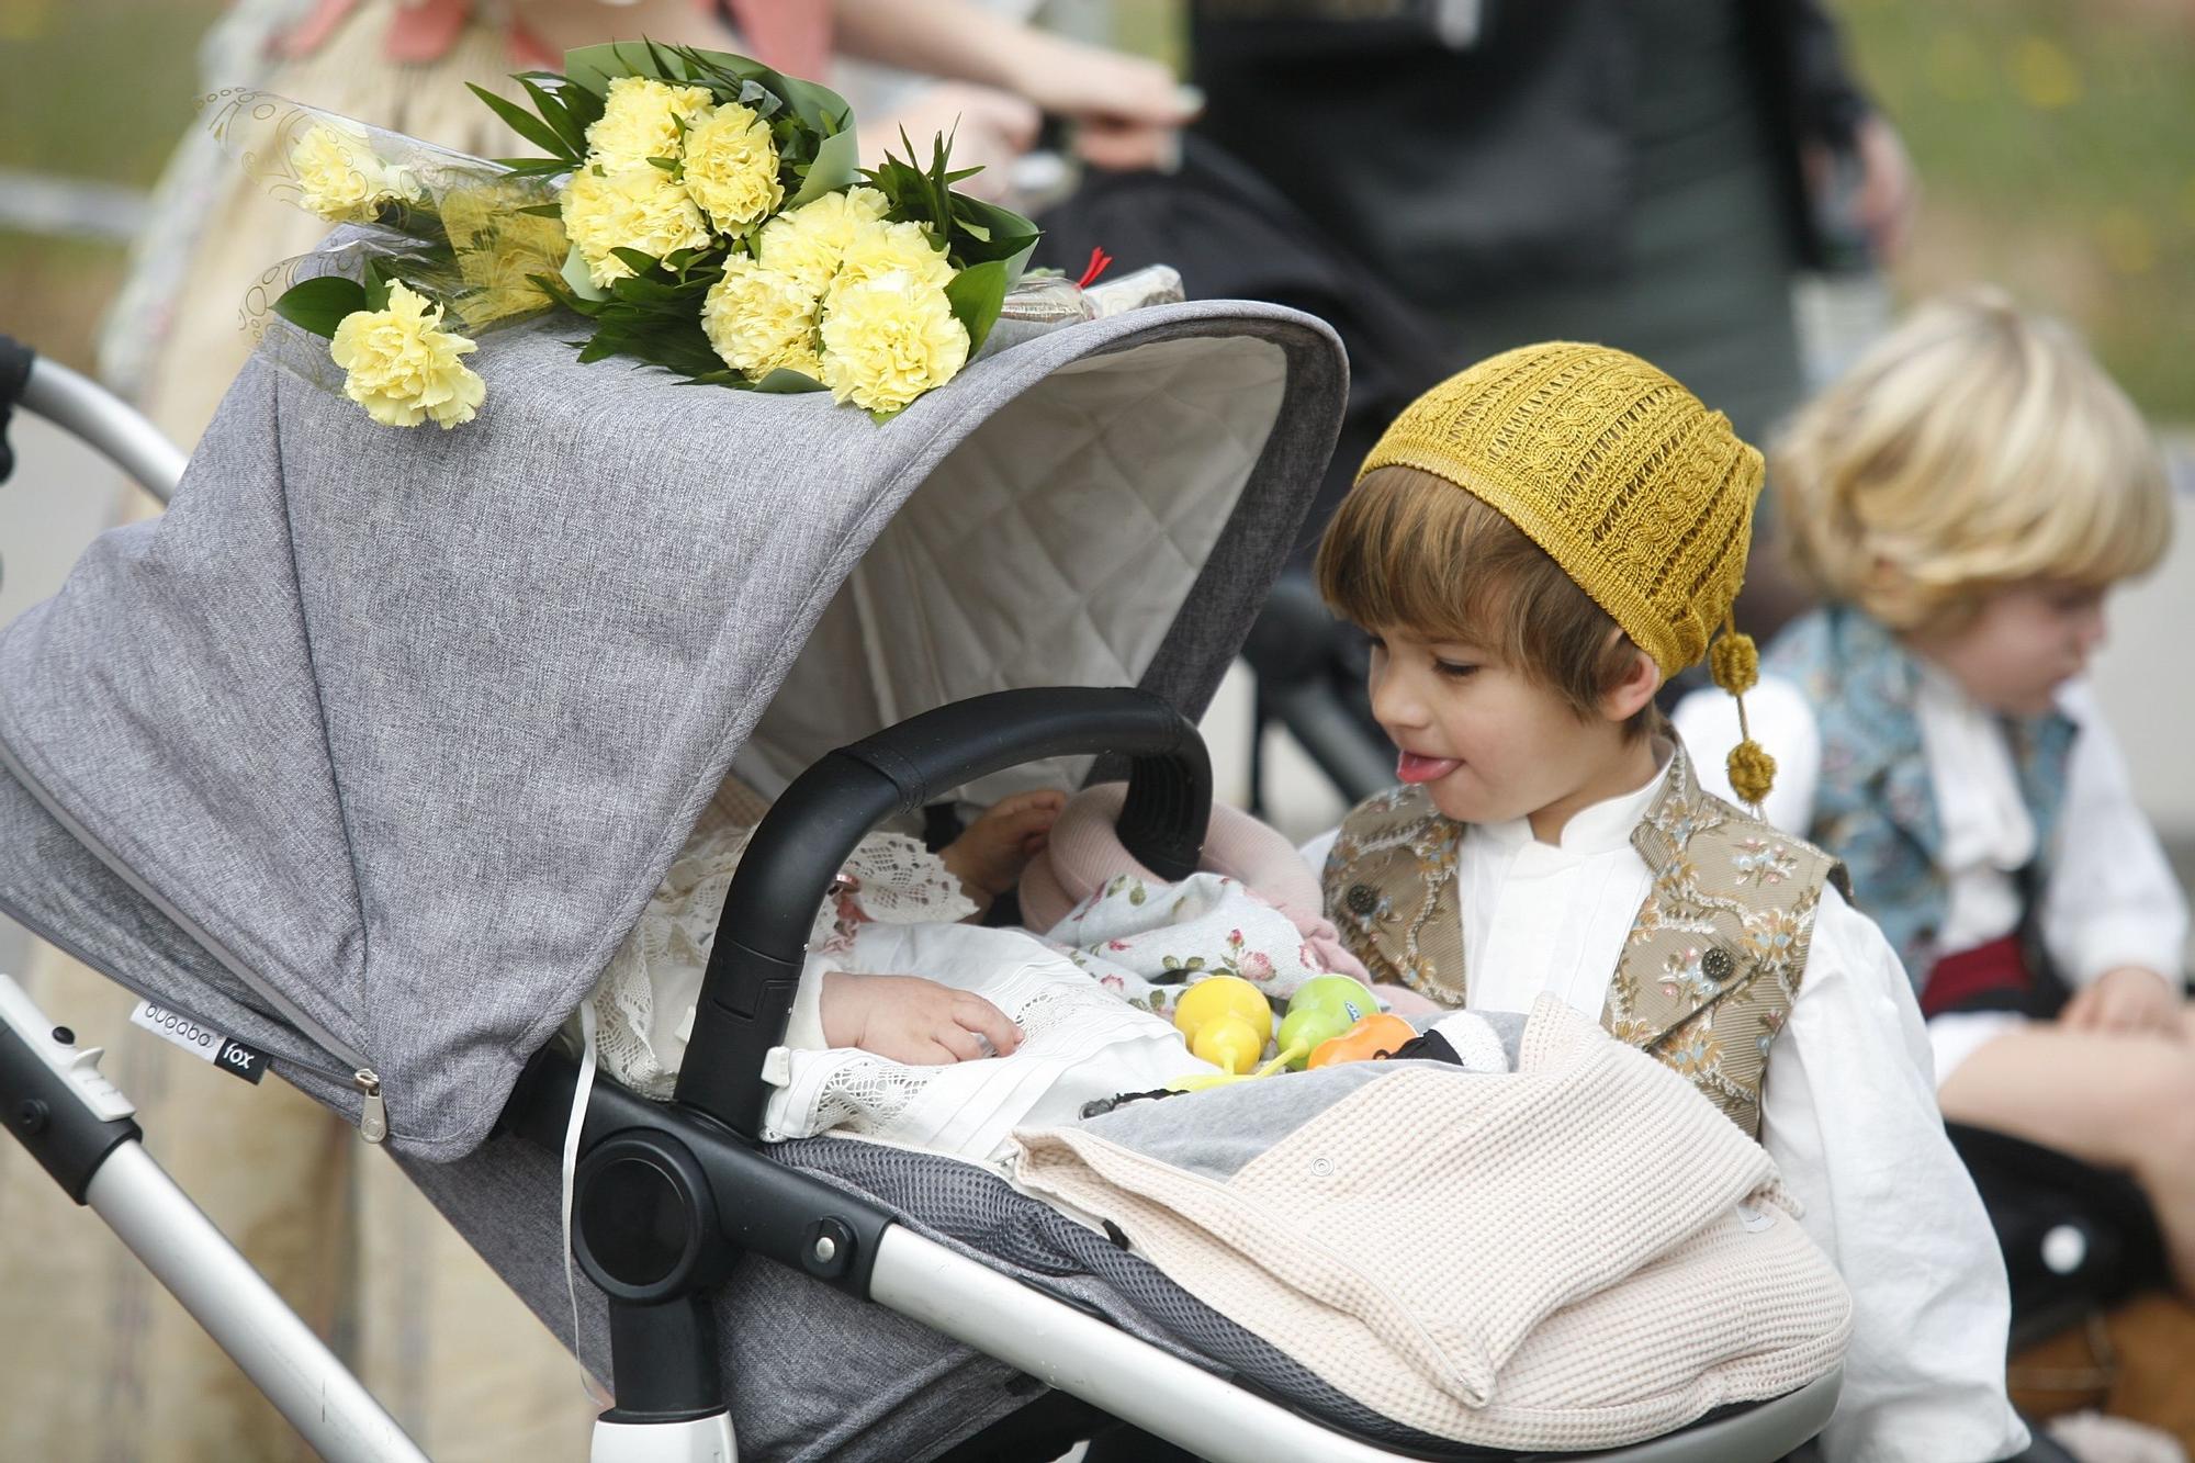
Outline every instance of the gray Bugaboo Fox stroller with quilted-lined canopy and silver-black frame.
{"label": "gray Bugaboo Fox stroller with quilted-lined canopy and silver-black frame", "polygon": [[[812,914],[871,828],[1126,775],[1126,846],[1196,865],[1183,712],[1321,479],[1335,336],[1137,310],[882,428],[579,367],[553,325],[479,362],[479,422],[397,433],[257,358],[169,514],[0,635],[0,912],[389,1144],[610,1382],[599,1463],[1051,1459],[1124,1423],[1245,1463],[1519,1456],[1370,1410],[988,1171],[757,1142]],[[0,376],[165,496],[127,409]],[[650,1103],[553,1035],[727,771],[775,802]],[[314,1448],[419,1456],[145,1158],[97,1054],[4,978],[0,1010],[18,1140]],[[1591,1456],[1765,1463],[1835,1397]]]}

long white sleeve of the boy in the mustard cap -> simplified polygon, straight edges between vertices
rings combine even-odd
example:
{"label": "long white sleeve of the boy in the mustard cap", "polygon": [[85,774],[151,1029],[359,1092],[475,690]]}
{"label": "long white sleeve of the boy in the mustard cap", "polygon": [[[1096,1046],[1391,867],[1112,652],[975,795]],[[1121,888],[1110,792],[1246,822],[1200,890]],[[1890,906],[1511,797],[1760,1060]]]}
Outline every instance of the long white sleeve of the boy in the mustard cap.
{"label": "long white sleeve of the boy in the mustard cap", "polygon": [[1943,1131],[1921,1008],[1881,929],[1833,887],[1769,1057],[1760,1140],[1853,1289],[1824,1459],[1980,1461],[2024,1448],[2004,1395],[2004,1261]]}

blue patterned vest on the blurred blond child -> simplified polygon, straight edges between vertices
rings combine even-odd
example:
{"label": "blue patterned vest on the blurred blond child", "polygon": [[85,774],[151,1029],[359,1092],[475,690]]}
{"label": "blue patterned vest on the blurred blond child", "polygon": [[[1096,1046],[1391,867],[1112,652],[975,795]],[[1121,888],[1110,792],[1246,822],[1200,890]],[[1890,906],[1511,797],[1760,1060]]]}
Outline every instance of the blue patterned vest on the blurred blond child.
{"label": "blue patterned vest on the blurred blond child", "polygon": [[[1943,874],[1943,819],[1914,714],[1921,668],[1872,617],[1831,606],[1796,619],[1760,670],[1800,688],[1822,727],[1822,780],[1806,837],[1835,848],[1859,907],[1883,927],[1914,989],[1927,980],[1951,896]],[[2072,718],[2006,718],[2019,800],[2035,819],[2035,887],[2050,876]]]}

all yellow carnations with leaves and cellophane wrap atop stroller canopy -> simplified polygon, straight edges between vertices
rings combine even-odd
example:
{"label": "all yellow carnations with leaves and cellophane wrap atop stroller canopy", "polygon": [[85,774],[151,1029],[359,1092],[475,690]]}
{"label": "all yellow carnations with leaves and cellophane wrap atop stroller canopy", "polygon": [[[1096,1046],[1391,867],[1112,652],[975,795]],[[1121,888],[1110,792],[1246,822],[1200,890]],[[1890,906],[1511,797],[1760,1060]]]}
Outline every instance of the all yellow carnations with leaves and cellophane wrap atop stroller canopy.
{"label": "all yellow carnations with leaves and cellophane wrap atop stroller canopy", "polygon": [[470,158],[266,92],[213,132],[277,198],[349,224],[268,270],[268,310],[325,349],[277,358],[375,422],[457,426],[485,402],[472,336],[564,308],[582,360],[696,384],[830,391],[878,422],[975,358],[1038,231],[966,198],[944,138],[860,169],[832,90],[759,62],[619,42],[472,88],[538,158]]}

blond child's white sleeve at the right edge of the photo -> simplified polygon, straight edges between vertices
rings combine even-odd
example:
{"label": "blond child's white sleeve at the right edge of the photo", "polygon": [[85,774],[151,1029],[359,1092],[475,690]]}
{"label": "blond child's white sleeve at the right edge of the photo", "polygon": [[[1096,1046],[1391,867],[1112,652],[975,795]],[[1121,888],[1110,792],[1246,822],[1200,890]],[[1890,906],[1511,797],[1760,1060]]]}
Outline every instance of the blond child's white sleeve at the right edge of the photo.
{"label": "blond child's white sleeve at the right edge of the photo", "polygon": [[2127,758],[2094,690],[2072,683],[2059,705],[2081,734],[2065,769],[2057,865],[2044,890],[2044,945],[2074,986],[2123,964],[2177,984],[2188,938],[2180,881],[2134,800]]}

